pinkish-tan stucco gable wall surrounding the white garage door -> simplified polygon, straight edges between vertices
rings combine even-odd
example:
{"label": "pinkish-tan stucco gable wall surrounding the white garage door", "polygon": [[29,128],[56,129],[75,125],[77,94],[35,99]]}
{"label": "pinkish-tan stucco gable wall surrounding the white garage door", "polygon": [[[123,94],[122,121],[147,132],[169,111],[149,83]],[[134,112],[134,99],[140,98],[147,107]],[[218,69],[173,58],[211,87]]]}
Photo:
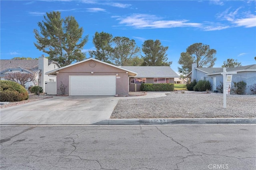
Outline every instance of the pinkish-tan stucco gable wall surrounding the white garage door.
{"label": "pinkish-tan stucco gable wall surrounding the white garage door", "polygon": [[[93,74],[91,72],[93,72]],[[116,76],[116,73],[118,74],[118,76]],[[57,94],[61,94],[61,91],[59,89],[61,82],[67,86],[65,94],[69,93],[70,75],[115,75],[117,77],[116,95],[129,94],[128,73],[126,73],[125,70],[91,60],[59,70],[59,73],[57,74]],[[104,82],[102,82],[102,84],[104,84]]]}

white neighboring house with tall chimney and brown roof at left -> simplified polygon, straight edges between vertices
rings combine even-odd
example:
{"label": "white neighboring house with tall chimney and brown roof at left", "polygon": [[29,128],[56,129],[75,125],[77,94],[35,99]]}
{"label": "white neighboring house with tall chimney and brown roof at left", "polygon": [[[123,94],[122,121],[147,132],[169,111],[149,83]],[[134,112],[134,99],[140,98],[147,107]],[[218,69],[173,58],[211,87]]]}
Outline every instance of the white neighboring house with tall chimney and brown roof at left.
{"label": "white neighboring house with tall chimney and brown roof at left", "polygon": [[38,60],[0,60],[0,80],[5,80],[5,74],[9,72],[36,73],[36,82],[27,82],[25,88],[38,85],[45,92],[45,82],[56,82],[56,76],[45,73],[60,67],[58,62],[48,60],[44,55]]}

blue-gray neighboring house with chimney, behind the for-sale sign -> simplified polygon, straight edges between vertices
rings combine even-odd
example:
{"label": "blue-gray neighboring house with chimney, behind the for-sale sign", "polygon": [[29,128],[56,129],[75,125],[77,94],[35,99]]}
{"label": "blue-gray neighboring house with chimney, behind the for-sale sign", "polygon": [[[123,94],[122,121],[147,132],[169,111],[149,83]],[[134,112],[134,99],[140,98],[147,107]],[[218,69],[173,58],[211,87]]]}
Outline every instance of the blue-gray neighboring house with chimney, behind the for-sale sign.
{"label": "blue-gray neighboring house with chimney, behind the for-sale sign", "polygon": [[[251,86],[256,83],[256,64],[248,66],[239,66],[235,68],[226,68],[227,72],[236,71],[237,74],[232,74],[232,84],[233,82],[239,82],[243,80],[246,82],[246,94],[252,94],[248,86]],[[192,71],[186,76],[191,78],[191,80],[209,80],[212,85],[212,91],[216,90],[216,87],[220,85],[220,82],[223,82],[223,68],[197,68],[196,63],[192,64]]]}

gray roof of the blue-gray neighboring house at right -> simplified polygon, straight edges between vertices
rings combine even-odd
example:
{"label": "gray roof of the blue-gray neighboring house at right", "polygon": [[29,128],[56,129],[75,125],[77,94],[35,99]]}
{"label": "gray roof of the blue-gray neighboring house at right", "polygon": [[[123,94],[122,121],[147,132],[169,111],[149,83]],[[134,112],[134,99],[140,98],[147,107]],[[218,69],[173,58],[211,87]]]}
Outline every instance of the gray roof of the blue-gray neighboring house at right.
{"label": "gray roof of the blue-gray neighboring house at right", "polygon": [[[197,70],[200,70],[202,72],[205,72],[208,75],[212,75],[212,74],[220,74],[221,72],[223,72],[223,68],[222,67],[211,67],[211,68],[196,68]],[[239,67],[234,67],[234,68],[226,68],[227,72],[230,71],[237,71],[237,72],[242,72],[242,71],[256,71],[256,64],[252,64],[252,65],[248,65],[248,66],[239,66]],[[192,72],[188,73],[187,76],[189,76]]]}

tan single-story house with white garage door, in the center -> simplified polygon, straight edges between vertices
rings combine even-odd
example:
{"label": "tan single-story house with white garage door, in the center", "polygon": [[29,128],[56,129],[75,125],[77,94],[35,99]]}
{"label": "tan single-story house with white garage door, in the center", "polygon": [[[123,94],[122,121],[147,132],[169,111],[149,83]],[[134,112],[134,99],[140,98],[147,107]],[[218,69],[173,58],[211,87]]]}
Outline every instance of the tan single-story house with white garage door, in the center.
{"label": "tan single-story house with white garage door, in the center", "polygon": [[64,84],[65,94],[70,96],[128,95],[135,84],[139,91],[142,83],[174,83],[174,77],[178,77],[168,66],[120,67],[93,58],[46,74],[57,76],[57,94],[61,94],[60,85]]}

